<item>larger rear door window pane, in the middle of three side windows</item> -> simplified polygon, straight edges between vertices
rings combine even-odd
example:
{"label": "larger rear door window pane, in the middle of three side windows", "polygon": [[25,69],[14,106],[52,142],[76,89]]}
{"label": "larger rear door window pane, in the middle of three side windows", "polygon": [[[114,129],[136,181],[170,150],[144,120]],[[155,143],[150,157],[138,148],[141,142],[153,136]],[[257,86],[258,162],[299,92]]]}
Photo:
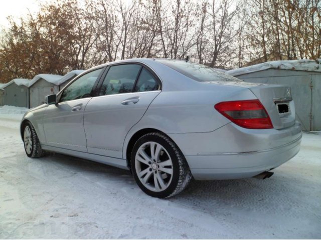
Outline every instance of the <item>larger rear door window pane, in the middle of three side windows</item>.
{"label": "larger rear door window pane, in the middle of three side windows", "polygon": [[99,95],[132,92],[140,68],[138,64],[111,66],[102,83]]}

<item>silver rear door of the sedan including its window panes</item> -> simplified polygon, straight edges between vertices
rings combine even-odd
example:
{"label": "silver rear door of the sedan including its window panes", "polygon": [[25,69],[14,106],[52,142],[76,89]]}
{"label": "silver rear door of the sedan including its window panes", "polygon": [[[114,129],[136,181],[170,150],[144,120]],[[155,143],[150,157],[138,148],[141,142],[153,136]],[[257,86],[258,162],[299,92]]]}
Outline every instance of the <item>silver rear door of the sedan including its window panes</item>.
{"label": "silver rear door of the sedan including its window panes", "polygon": [[86,106],[84,127],[90,153],[122,158],[129,129],[161,92],[161,81],[140,64],[109,67],[99,95]]}

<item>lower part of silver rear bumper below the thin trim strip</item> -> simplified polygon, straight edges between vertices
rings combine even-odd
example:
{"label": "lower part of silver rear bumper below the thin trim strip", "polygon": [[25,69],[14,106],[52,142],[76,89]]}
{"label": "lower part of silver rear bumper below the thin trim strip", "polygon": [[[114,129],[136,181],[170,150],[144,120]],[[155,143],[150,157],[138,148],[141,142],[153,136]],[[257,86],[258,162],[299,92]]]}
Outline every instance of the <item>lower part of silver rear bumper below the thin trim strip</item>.
{"label": "lower part of silver rear bumper below the thin trim strip", "polygon": [[187,155],[192,174],[198,180],[255,176],[291,159],[300,150],[301,136],[280,147],[256,152]]}

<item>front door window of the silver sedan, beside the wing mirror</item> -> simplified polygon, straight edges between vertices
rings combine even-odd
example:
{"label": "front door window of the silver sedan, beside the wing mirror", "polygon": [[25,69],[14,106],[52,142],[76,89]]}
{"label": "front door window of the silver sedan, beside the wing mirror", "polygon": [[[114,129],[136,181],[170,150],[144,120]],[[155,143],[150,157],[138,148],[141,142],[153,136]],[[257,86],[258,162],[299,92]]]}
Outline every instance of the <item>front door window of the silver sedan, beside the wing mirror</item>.
{"label": "front door window of the silver sedan, beside the wing mirror", "polygon": [[88,72],[71,83],[61,94],[60,102],[91,96],[91,90],[103,68]]}

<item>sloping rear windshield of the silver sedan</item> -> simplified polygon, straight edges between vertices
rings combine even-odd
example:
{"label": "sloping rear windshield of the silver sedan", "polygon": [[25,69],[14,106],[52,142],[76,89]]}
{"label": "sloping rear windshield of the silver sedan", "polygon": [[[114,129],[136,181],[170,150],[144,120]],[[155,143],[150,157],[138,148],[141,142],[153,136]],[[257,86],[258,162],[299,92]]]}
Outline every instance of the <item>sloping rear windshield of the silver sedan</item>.
{"label": "sloping rear windshield of the silver sedan", "polygon": [[199,63],[175,59],[158,59],[157,61],[196,81],[242,81],[234,76]]}

